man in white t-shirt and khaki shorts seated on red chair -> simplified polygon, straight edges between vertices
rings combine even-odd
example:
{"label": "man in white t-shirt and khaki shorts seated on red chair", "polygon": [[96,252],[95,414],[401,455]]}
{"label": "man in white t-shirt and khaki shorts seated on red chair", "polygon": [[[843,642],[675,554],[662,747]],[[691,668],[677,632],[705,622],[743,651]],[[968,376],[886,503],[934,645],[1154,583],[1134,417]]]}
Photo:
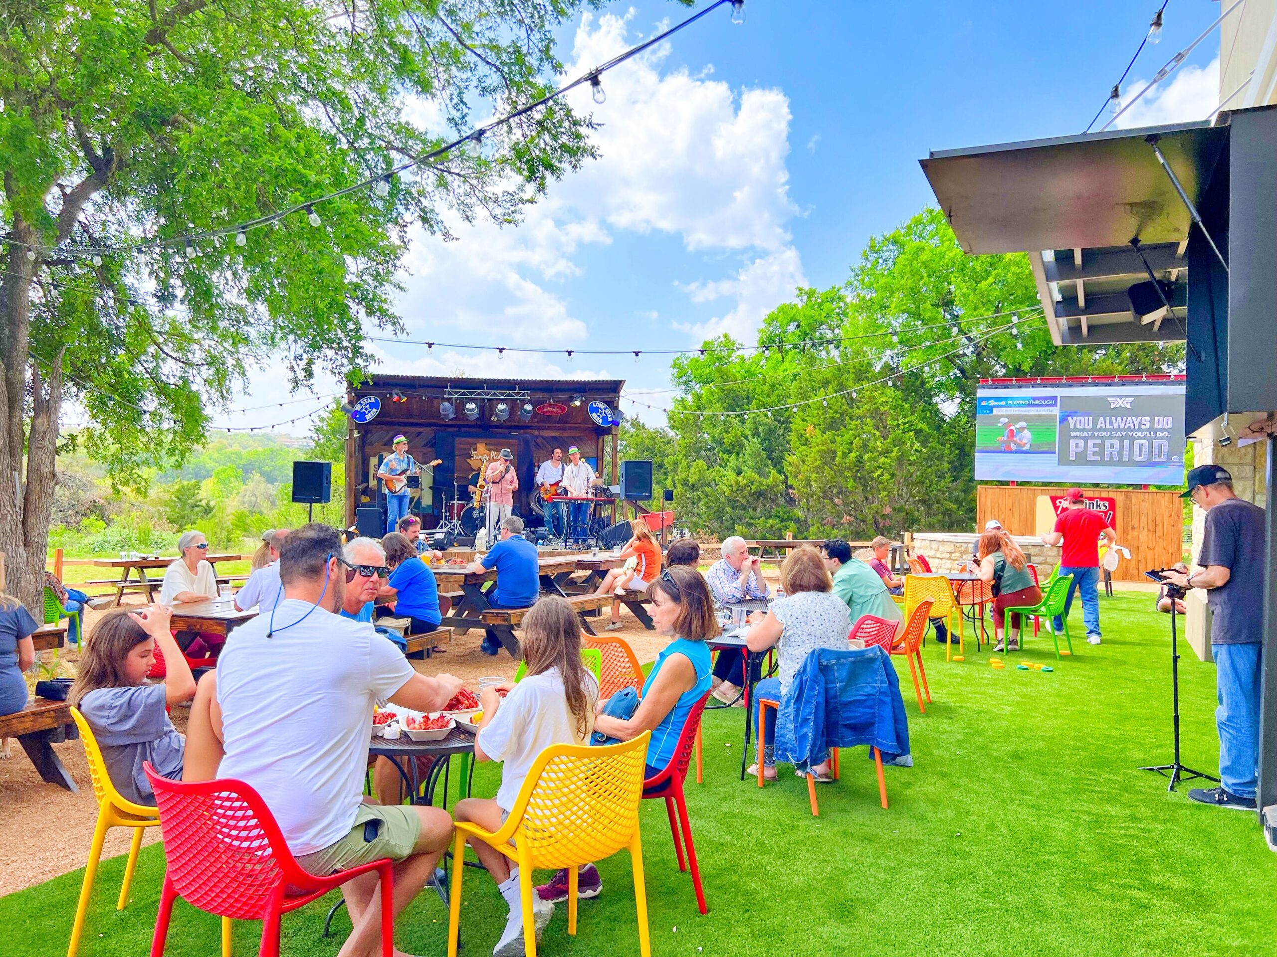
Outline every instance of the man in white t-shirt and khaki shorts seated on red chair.
{"label": "man in white t-shirt and khaki shorts seated on red chair", "polygon": [[[217,775],[262,795],[310,873],[397,861],[397,914],[434,874],[452,819],[441,808],[363,803],[373,704],[438,711],[461,681],[419,675],[370,624],[338,616],[350,570],[327,526],[306,524],[285,540],[283,601],[241,625],[217,665],[211,723],[225,750]],[[354,923],[344,956],[372,957],[379,947],[377,886],[375,874],[342,886]]]}

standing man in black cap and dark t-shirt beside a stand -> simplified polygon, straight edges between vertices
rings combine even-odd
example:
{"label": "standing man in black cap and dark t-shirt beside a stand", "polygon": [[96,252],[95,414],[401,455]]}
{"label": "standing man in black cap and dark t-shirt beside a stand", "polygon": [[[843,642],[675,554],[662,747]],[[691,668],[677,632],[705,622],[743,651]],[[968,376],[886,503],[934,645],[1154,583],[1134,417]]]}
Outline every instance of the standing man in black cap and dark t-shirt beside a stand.
{"label": "standing man in black cap and dark t-shirt beside a stand", "polygon": [[1232,494],[1232,476],[1198,466],[1183,498],[1205,509],[1198,565],[1176,565],[1166,578],[1181,588],[1207,590],[1213,623],[1220,707],[1220,787],[1194,787],[1189,798],[1220,808],[1255,809],[1259,785],[1259,686],[1263,665],[1264,510]]}

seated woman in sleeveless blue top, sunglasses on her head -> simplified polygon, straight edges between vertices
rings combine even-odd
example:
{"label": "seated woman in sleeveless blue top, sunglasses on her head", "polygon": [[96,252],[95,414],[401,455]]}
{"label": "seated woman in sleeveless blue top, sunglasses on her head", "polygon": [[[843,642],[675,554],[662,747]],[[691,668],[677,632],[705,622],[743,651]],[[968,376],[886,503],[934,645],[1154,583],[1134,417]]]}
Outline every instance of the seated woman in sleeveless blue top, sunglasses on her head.
{"label": "seated woman in sleeveless blue top, sunglasses on her head", "polygon": [[[645,778],[665,769],[674,757],[688,712],[709,694],[713,664],[705,642],[716,638],[720,630],[714,597],[695,568],[667,568],[647,586],[647,597],[656,630],[674,641],[656,656],[641,694],[623,688],[599,702],[593,738],[594,744],[613,744],[651,731]],[[550,903],[566,901],[567,882],[567,870],[561,870],[550,883],[538,887],[536,893]],[[593,864],[584,865],[577,875],[577,896],[598,897],[601,891],[598,869]]]}

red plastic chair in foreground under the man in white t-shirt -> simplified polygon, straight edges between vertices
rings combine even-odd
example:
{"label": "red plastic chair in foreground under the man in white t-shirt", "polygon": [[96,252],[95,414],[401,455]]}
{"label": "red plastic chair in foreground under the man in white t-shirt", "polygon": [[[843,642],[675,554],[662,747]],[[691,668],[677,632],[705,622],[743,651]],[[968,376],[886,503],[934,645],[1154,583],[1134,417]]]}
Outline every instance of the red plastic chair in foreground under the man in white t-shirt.
{"label": "red plastic chair in foreground under the man in white t-shirt", "polygon": [[151,957],[162,957],[172,902],[207,914],[261,920],[258,957],[278,957],[280,917],[354,877],[381,878],[382,957],[395,952],[393,863],[384,857],[328,877],[301,869],[262,796],[243,781],[170,781],[144,763],[156,792],[167,869]]}

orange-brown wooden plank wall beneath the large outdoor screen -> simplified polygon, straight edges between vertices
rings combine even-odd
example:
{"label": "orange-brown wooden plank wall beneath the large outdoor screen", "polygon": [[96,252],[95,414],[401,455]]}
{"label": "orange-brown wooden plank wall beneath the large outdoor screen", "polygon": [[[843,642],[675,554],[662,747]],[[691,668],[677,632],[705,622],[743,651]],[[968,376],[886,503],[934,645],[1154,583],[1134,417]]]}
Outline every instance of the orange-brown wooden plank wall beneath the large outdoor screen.
{"label": "orange-brown wooden plank wall beneath the large outdoor screen", "polygon": [[[976,496],[976,527],[996,518],[1011,535],[1033,535],[1038,495],[1064,495],[1068,489],[1033,485],[981,485]],[[1091,490],[1087,493],[1091,494]],[[1184,551],[1184,503],[1177,491],[1140,489],[1094,490],[1116,499],[1117,542],[1130,550],[1114,572],[1115,581],[1145,582],[1149,568],[1165,568]]]}

